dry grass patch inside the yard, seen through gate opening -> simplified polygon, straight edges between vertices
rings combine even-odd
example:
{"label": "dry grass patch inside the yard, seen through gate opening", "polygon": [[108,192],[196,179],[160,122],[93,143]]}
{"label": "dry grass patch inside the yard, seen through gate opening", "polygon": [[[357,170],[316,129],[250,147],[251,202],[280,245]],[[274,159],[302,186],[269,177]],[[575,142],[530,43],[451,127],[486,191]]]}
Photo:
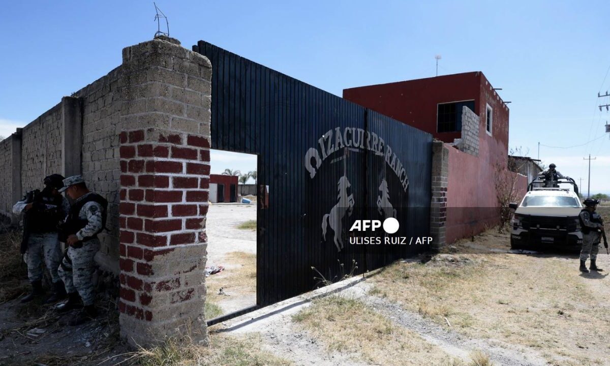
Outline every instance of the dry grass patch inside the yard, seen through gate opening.
{"label": "dry grass patch inside the yard, seen through gate opening", "polygon": [[231,252],[226,255],[225,260],[237,267],[226,268],[222,272],[206,278],[206,301],[218,303],[223,300],[224,295],[218,294],[221,288],[231,296],[247,292],[256,293],[256,254]]}

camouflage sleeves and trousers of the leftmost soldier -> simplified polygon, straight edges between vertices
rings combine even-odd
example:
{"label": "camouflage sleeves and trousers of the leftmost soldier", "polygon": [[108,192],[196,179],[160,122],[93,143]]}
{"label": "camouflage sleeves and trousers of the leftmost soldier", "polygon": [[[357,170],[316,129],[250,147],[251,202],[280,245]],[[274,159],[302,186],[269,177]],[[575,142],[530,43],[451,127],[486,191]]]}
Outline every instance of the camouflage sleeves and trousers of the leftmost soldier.
{"label": "camouflage sleeves and trousers of the leftmost soldier", "polygon": [[[26,200],[21,200],[13,206],[13,213],[21,215],[27,206]],[[62,197],[62,217],[70,211],[70,202]],[[43,277],[42,264],[51,273],[53,283],[60,281],[57,268],[62,261],[62,249],[59,246],[57,231],[34,232],[29,234],[26,252],[27,278],[30,282],[41,281]]]}

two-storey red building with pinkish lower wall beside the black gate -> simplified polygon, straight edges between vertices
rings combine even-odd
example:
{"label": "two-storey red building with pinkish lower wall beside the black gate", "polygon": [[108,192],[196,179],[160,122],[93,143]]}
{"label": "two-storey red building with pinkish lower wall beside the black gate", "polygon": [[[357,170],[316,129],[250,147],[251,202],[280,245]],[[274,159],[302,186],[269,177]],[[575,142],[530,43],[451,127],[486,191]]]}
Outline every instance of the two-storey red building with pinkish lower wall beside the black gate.
{"label": "two-storey red building with pinkish lower wall beside the black gate", "polygon": [[[512,174],[505,172],[509,109],[482,72],[349,88],[343,98],[429,132],[450,146],[448,243],[497,223],[495,179],[499,170]],[[526,178],[515,179],[525,192]]]}

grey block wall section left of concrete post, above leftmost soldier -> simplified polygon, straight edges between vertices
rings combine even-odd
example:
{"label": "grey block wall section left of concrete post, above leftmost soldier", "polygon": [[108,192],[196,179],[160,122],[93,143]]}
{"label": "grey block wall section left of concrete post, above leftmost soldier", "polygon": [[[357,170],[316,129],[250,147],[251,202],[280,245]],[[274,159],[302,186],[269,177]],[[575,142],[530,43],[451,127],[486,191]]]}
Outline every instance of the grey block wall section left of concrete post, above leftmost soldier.
{"label": "grey block wall section left of concrete post, above leftmost soldier", "polygon": [[23,127],[21,185],[23,192],[43,188],[45,176],[62,173],[61,103]]}

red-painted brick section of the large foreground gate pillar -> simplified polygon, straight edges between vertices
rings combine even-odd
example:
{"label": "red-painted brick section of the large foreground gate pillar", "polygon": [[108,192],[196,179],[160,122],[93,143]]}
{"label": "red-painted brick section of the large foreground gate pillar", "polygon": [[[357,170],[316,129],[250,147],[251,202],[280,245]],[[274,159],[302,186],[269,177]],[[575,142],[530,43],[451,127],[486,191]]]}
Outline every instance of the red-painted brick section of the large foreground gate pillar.
{"label": "red-painted brick section of the large foreground gate pillar", "polygon": [[[122,132],[120,141],[119,309],[139,320],[171,320],[177,305],[199,306],[205,292],[208,190],[200,187],[209,181],[209,140],[148,129]],[[173,253],[177,247],[182,253]]]}

